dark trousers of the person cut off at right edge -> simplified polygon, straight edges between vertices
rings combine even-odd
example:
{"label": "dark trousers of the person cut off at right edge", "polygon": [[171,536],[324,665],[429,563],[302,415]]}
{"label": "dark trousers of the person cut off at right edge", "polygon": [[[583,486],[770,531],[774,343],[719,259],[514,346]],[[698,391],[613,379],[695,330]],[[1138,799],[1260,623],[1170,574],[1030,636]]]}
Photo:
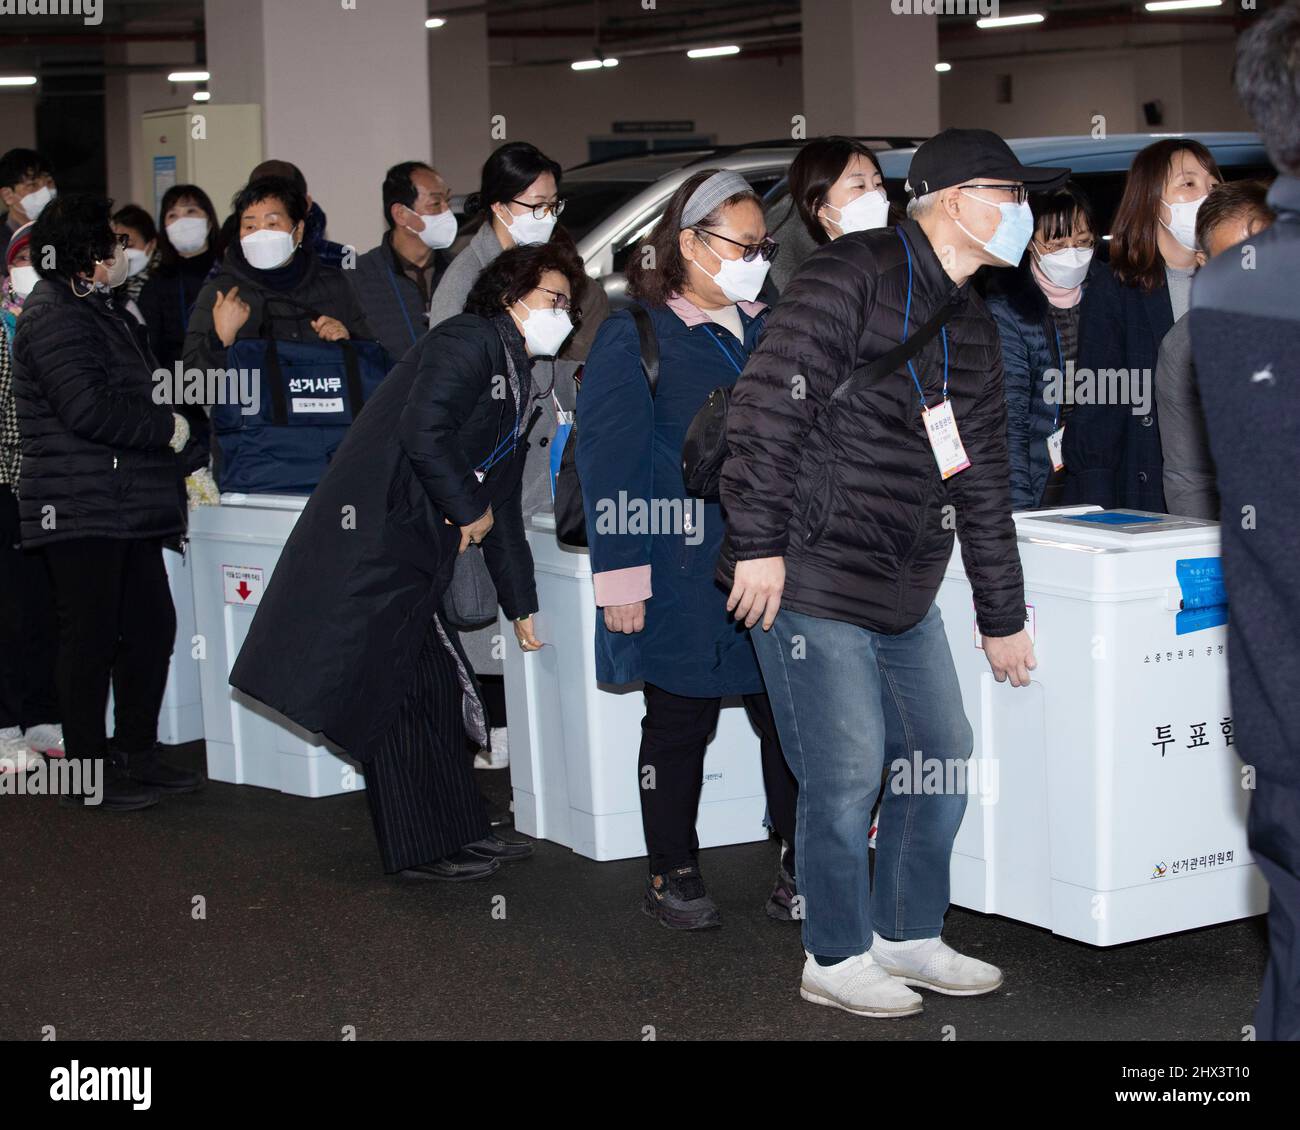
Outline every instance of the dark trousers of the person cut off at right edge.
{"label": "dark trousers of the person cut off at right edge", "polygon": [[1300,1040],[1300,789],[1260,780],[1245,830],[1269,880],[1269,965],[1254,1038]]}

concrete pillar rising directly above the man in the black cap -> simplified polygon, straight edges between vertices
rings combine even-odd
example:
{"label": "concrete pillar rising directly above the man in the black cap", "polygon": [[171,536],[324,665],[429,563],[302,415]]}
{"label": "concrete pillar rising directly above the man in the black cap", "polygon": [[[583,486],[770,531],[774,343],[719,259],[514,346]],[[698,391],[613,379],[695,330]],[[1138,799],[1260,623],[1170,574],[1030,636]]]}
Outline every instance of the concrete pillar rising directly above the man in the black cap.
{"label": "concrete pillar rising directly above the man in the black cap", "polygon": [[910,14],[911,7],[894,0],[803,0],[810,138],[939,131],[939,25],[933,16]]}

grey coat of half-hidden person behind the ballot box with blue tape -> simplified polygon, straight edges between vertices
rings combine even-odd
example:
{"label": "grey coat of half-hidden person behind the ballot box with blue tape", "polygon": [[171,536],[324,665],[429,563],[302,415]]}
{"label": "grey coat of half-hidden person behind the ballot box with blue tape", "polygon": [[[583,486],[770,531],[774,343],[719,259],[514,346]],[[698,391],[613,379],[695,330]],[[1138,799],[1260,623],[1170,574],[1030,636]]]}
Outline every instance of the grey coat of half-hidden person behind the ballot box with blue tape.
{"label": "grey coat of half-hidden person behind the ballot box with blue tape", "polygon": [[1210,437],[1196,385],[1187,315],[1174,322],[1160,343],[1156,403],[1160,404],[1160,446],[1165,459],[1165,505],[1169,512],[1218,521],[1214,456],[1210,455]]}

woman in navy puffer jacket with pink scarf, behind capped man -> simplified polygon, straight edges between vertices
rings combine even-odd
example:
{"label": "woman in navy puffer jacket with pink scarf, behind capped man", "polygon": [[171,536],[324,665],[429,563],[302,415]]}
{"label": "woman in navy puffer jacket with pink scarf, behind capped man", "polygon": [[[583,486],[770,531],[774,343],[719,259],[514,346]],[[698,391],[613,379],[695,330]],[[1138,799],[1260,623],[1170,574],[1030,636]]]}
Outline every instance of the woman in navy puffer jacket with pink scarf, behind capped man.
{"label": "woman in navy puffer jacket with pink scarf, behind capped man", "polygon": [[1072,415],[1061,391],[1079,355],[1079,311],[1092,280],[1096,224],[1074,185],[1030,196],[1034,235],[1019,268],[989,272],[985,304],[1002,342],[1011,510],[1058,506],[1065,486],[1061,438]]}

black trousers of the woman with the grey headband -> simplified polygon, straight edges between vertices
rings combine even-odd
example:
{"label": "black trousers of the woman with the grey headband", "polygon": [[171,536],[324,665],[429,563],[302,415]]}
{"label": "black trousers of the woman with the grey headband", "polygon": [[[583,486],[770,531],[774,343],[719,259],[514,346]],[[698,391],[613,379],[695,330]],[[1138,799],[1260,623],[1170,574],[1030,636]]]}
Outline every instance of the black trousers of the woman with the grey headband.
{"label": "black trousers of the woman with the grey headband", "polygon": [[[641,757],[637,766],[641,824],[650,854],[650,874],[694,863],[699,852],[696,813],[705,778],[705,750],[718,727],[720,698],[686,698],[646,684],[646,716],[641,720]],[[774,831],[794,843],[794,804],[798,787],[781,753],[776,719],[766,694],[746,694],[745,714],[758,731],[763,758],[763,785]],[[654,770],[654,788],[646,788],[646,770]],[[793,856],[788,857],[793,866]]]}

